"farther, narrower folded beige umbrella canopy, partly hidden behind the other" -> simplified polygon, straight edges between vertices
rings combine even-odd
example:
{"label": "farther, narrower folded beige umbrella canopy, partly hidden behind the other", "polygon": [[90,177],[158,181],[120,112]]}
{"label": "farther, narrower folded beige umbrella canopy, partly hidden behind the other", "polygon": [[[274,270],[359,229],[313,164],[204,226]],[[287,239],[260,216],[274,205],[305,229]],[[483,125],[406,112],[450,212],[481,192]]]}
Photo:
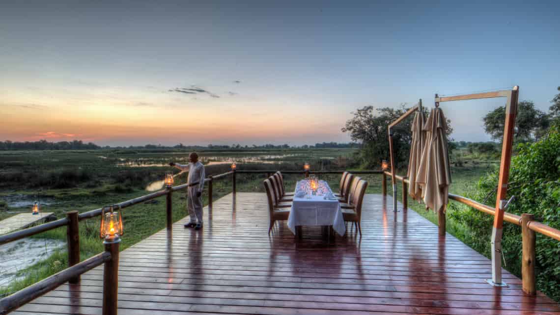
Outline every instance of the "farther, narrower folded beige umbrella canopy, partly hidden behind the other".
{"label": "farther, narrower folded beige umbrella canopy, partly hidden behind the other", "polygon": [[424,120],[423,112],[417,112],[412,120],[412,144],[410,145],[407,177],[409,180],[408,194],[414,200],[422,199],[422,188],[416,181],[416,176],[422,158],[422,146],[426,143],[426,131],[422,130]]}

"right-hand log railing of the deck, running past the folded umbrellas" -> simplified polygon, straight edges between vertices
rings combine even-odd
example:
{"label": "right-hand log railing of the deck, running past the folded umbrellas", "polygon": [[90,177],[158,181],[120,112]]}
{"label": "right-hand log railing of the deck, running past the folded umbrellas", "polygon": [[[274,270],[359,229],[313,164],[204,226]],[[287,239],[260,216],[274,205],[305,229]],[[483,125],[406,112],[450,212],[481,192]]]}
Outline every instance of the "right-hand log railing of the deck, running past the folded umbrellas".
{"label": "right-hand log railing of the deck, running past the folded umbrellas", "polygon": [[[387,193],[387,176],[391,176],[391,172],[383,173],[383,180],[381,184],[382,193],[386,195]],[[408,189],[407,185],[409,180],[407,177],[395,175],[396,180],[403,183],[403,206],[406,208],[408,199]],[[449,194],[449,199],[457,201],[458,203],[470,206],[471,208],[477,209],[483,213],[489,215],[494,215],[496,209],[485,204],[481,204],[478,201],[466,198],[464,196]],[[441,215],[438,215],[438,225],[440,225],[440,230],[443,225],[445,232],[445,214],[440,211]],[[441,219],[443,218],[443,224],[441,224]],[[533,214],[524,213],[521,215],[504,213],[503,220],[508,223],[519,225],[521,227],[521,238],[522,238],[522,258],[521,258],[521,280],[523,291],[527,294],[536,294],[536,274],[535,274],[535,255],[536,255],[536,236],[535,233],[543,234],[550,238],[560,241],[560,231],[551,228],[546,224],[540,223],[534,220]]]}

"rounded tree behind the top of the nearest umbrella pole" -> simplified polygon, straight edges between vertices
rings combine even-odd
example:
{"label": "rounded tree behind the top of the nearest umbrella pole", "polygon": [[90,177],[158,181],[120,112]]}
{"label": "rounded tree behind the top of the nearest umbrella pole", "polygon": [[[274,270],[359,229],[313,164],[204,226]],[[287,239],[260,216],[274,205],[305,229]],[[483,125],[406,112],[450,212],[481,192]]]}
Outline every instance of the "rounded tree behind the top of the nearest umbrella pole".
{"label": "rounded tree behind the top of the nearest umbrella pole", "polygon": [[[484,116],[484,130],[491,135],[492,139],[501,140],[505,120],[506,107],[498,107]],[[542,110],[535,109],[532,101],[521,101],[517,104],[515,140],[521,142],[538,140],[547,133],[549,126],[549,116]]]}

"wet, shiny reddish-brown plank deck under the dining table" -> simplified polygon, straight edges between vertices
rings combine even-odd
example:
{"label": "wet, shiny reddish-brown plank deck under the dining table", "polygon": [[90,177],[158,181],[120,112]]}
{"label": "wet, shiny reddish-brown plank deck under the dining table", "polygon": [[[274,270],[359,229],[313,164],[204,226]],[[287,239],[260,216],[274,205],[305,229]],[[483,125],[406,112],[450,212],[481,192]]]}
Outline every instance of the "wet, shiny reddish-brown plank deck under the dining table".
{"label": "wet, shiny reddish-brown plank deck under the dining table", "polygon": [[[487,258],[449,234],[438,239],[412,210],[395,218],[389,196],[366,195],[361,239],[348,225],[330,243],[320,227],[297,241],[285,222],[269,237],[265,195],[232,200],[205,209],[202,231],[184,219],[172,236],[162,230],[122,252],[119,314],[560,314],[507,271],[508,288],[488,285]],[[101,279],[97,267],[13,313],[101,314]]]}

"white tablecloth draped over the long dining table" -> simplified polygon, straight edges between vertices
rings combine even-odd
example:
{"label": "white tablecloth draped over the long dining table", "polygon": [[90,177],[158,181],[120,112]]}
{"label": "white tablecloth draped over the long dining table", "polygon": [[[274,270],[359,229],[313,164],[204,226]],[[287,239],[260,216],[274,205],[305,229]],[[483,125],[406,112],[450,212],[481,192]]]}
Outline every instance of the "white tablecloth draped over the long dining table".
{"label": "white tablecloth draped over the long dining table", "polygon": [[[301,187],[301,183],[302,181],[297,182],[296,193],[298,187]],[[325,181],[319,181],[319,185],[325,186],[330,191],[330,187]],[[338,200],[326,200],[323,195],[307,197],[293,197],[292,209],[290,217],[288,217],[290,231],[296,234],[298,225],[333,225],[334,231],[343,236],[346,233],[346,226]]]}

